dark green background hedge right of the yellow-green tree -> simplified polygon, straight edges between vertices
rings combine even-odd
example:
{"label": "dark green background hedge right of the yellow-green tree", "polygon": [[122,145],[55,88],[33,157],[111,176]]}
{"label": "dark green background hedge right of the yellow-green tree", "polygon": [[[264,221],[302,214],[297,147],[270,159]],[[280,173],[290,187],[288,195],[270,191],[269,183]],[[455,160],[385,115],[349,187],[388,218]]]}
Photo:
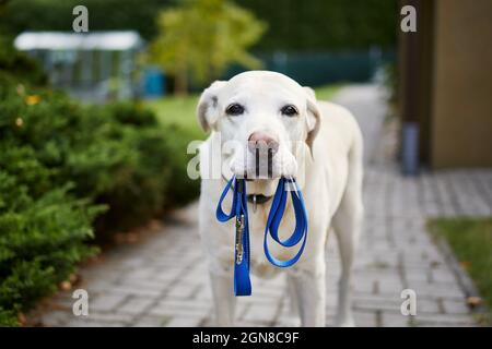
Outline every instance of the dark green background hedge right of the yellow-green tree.
{"label": "dark green background hedge right of the yellow-green tree", "polygon": [[320,51],[391,48],[398,0],[237,0],[269,24],[257,49]]}

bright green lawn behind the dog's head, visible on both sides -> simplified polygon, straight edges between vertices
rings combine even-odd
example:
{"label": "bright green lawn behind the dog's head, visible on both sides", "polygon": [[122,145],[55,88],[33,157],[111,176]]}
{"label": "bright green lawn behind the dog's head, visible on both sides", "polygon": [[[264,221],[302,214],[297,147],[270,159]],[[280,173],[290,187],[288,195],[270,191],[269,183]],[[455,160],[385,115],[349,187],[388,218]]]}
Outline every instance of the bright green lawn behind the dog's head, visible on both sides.
{"label": "bright green lawn behind the dog's head, visible on both sides", "polygon": [[[332,84],[315,88],[318,99],[330,99],[343,85]],[[187,97],[166,96],[159,99],[144,101],[144,106],[154,110],[159,119],[164,124],[176,124],[190,132],[195,140],[204,139],[206,134],[198,125],[195,115],[197,108],[198,95]]]}

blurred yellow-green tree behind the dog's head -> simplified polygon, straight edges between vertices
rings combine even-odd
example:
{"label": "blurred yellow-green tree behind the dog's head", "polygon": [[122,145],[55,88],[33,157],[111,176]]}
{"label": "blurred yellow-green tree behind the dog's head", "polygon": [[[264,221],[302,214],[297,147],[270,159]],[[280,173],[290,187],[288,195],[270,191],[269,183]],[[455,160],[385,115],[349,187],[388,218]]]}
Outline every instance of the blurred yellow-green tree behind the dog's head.
{"label": "blurred yellow-green tree behind the dog's head", "polygon": [[227,0],[187,0],[162,11],[157,27],[148,60],[174,75],[176,94],[187,92],[189,74],[206,83],[231,63],[248,69],[261,65],[246,50],[259,40],[266,24]]}

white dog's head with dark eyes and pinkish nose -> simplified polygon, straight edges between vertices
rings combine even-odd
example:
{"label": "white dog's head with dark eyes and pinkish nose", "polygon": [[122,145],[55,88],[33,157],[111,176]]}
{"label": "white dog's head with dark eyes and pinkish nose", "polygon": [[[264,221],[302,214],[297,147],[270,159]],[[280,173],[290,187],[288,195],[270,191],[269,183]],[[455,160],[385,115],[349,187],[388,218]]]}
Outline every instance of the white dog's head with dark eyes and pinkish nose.
{"label": "white dog's head with dark eyes and pinkish nose", "polygon": [[203,130],[220,132],[227,144],[223,168],[261,183],[254,191],[263,194],[271,194],[266,193],[271,179],[296,176],[300,156],[311,151],[320,123],[313,89],[268,71],[214,82],[201,95],[197,113]]}

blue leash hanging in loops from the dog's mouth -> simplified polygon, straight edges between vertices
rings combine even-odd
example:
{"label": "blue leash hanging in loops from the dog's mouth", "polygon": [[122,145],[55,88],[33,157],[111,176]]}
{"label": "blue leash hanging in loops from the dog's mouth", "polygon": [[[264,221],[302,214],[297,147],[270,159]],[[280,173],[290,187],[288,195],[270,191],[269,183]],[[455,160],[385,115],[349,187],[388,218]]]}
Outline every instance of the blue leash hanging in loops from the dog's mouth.
{"label": "blue leash hanging in loops from the dog's mouth", "polygon": [[[234,186],[233,186],[234,183]],[[291,185],[290,190],[286,186]],[[233,205],[231,212],[225,214],[222,209],[222,202],[233,188]],[[295,229],[290,238],[282,241],[279,238],[279,226],[285,212],[288,192],[291,192],[292,203],[295,212]],[[249,227],[248,227],[248,207],[246,181],[237,179],[235,176],[231,178],[222,192],[221,198],[216,207],[216,219],[220,221],[227,221],[233,217],[236,218],[236,239],[234,253],[234,294],[235,296],[250,296],[251,281],[249,279]],[[279,244],[284,248],[292,248],[301,242],[298,252],[290,260],[277,260],[268,248],[268,234]],[[297,183],[294,179],[281,178],[277,186],[273,202],[271,204],[270,213],[267,219],[267,227],[265,228],[263,249],[267,260],[278,267],[289,267],[298,261],[307,240],[307,214],[304,207],[304,200]]]}

